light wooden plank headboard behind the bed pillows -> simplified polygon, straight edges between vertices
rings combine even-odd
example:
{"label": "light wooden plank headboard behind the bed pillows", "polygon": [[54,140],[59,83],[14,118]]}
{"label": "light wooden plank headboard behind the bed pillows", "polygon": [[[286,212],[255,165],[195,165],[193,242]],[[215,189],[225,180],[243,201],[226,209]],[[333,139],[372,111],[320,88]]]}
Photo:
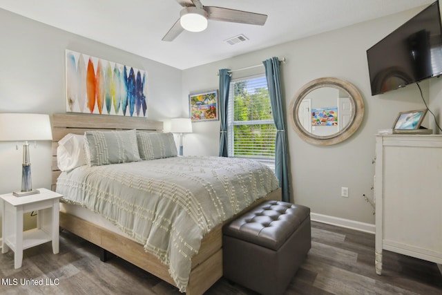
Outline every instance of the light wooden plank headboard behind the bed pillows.
{"label": "light wooden plank headboard behind the bed pillows", "polygon": [[54,114],[52,115],[52,190],[55,190],[60,175],[57,166],[57,146],[59,140],[68,133],[84,134],[89,130],[130,130],[162,132],[163,122],[147,120],[144,117],[114,115]]}

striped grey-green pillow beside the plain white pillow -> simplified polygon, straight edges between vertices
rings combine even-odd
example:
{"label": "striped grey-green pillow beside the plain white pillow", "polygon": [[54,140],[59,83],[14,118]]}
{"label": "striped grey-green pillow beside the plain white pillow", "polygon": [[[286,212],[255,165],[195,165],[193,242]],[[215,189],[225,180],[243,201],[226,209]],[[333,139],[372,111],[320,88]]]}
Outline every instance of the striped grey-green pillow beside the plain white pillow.
{"label": "striped grey-green pillow beside the plain white pillow", "polygon": [[89,166],[140,161],[136,131],[86,131],[84,151]]}

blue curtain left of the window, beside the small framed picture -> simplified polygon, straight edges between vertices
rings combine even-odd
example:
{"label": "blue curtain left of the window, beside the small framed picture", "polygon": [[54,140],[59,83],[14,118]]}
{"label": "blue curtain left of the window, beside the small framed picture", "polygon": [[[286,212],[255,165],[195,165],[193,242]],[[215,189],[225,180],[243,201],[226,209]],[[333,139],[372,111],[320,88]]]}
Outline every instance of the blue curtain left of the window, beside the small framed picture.
{"label": "blue curtain left of the window, beside the small framed picture", "polygon": [[227,104],[229,104],[229,87],[230,87],[229,69],[222,68],[220,70],[220,157],[227,157]]}

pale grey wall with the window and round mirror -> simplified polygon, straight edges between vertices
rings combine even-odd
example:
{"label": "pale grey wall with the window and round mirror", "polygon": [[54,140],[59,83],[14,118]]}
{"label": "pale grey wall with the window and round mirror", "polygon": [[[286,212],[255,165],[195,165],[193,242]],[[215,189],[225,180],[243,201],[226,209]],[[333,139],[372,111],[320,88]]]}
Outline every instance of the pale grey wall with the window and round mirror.
{"label": "pale grey wall with the window and round mirror", "polygon": [[[218,88],[215,73],[220,68],[253,66],[273,56],[287,59],[281,66],[286,115],[290,113],[287,106],[294,94],[307,82],[319,77],[338,77],[351,82],[363,95],[365,117],[358,131],[345,142],[334,146],[307,144],[286,120],[291,198],[307,205],[314,213],[374,224],[373,209],[363,198],[363,194],[373,198],[374,135],[378,129],[391,128],[398,112],[422,108],[423,102],[415,84],[372,97],[366,50],[419,11],[409,10],[184,70],[183,99],[186,101],[186,95],[193,91]],[[438,94],[442,92],[442,83],[439,84],[432,87]],[[429,82],[421,83],[421,87],[428,102]],[[439,110],[441,107],[442,102],[439,102]],[[426,125],[427,122],[428,119]],[[193,129],[192,141],[189,138],[184,149],[190,154],[218,155],[219,122],[193,123]],[[200,145],[202,143],[204,146]],[[340,187],[349,188],[349,198],[340,196]]]}

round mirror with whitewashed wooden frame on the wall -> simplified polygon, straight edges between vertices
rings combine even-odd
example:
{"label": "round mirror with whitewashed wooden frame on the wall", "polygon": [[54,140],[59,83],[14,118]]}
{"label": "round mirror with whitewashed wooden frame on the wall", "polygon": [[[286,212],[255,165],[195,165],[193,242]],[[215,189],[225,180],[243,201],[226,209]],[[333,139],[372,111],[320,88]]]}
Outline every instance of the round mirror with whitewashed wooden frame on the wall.
{"label": "round mirror with whitewashed wooden frame on the wall", "polygon": [[289,120],[298,135],[310,144],[343,142],[361,125],[364,103],[351,83],[334,77],[314,79],[291,99]]}

